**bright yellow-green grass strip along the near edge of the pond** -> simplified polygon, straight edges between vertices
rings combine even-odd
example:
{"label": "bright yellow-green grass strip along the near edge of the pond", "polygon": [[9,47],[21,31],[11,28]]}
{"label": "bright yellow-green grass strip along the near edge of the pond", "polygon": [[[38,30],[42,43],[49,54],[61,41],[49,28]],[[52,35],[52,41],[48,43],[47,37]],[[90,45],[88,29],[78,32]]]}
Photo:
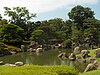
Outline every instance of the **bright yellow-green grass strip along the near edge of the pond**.
{"label": "bright yellow-green grass strip along the near edge of the pond", "polygon": [[78,75],[70,66],[0,66],[0,75]]}

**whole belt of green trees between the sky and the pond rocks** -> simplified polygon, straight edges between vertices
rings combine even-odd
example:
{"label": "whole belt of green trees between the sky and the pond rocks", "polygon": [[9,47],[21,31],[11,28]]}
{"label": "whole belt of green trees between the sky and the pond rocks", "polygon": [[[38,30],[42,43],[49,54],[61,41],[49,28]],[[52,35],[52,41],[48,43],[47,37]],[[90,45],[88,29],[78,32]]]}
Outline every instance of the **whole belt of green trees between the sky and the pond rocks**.
{"label": "whole belt of green trees between the sky and the pond rocks", "polygon": [[33,22],[36,14],[31,14],[25,7],[4,7],[5,15],[0,17],[0,39],[11,45],[22,44],[22,41],[37,41],[39,44],[50,44],[52,39],[60,40],[65,48],[75,45],[100,45],[100,20],[94,17],[89,7],[75,6],[68,13],[69,20],[55,18]]}

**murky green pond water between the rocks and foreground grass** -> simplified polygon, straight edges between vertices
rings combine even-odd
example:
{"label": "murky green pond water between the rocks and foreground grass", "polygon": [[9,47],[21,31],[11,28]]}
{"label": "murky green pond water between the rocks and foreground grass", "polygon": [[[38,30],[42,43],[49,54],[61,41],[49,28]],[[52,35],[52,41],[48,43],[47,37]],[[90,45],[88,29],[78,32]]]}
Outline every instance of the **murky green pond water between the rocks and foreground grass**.
{"label": "murky green pond water between the rocks and foreground grass", "polygon": [[25,64],[32,64],[32,65],[70,65],[77,69],[80,72],[86,67],[86,64],[79,63],[76,61],[69,61],[68,59],[62,60],[57,57],[59,54],[58,50],[48,50],[42,53],[35,53],[35,52],[23,52],[13,55],[7,55],[0,57],[0,61],[4,61],[4,63],[11,63],[14,64],[17,61],[22,61]]}

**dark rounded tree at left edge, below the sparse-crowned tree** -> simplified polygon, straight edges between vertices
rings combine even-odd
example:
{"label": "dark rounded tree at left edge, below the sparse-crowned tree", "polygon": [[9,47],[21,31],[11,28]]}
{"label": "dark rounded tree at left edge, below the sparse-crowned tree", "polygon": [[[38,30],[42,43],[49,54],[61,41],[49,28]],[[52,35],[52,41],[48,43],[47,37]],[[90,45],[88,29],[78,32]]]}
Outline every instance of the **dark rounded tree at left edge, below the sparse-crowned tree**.
{"label": "dark rounded tree at left edge, below the sparse-crowned tree", "polygon": [[23,41],[24,30],[14,24],[7,24],[0,28],[1,41],[11,45],[20,45]]}

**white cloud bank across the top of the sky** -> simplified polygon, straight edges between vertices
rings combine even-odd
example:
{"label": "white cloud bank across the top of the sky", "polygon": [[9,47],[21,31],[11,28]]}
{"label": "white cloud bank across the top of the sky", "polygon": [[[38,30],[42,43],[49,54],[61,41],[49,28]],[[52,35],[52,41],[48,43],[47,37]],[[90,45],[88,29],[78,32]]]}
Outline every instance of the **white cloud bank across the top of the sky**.
{"label": "white cloud bank across the top of the sky", "polygon": [[69,8],[76,4],[96,4],[99,0],[0,0],[0,13],[3,7],[27,7],[30,12],[44,13],[58,8]]}

